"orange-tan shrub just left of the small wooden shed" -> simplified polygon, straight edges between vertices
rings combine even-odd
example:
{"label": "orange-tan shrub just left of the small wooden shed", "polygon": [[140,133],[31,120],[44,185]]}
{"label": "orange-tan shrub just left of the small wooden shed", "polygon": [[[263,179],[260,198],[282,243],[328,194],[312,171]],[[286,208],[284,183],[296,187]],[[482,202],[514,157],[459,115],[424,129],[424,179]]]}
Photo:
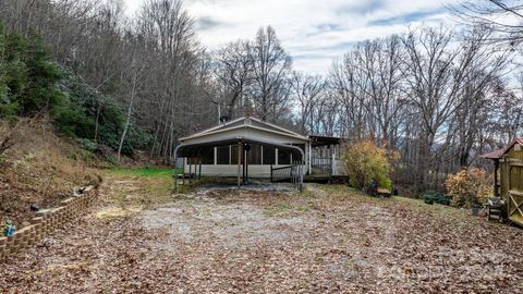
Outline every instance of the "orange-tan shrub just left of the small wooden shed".
{"label": "orange-tan shrub just left of the small wooden shed", "polygon": [[446,181],[447,191],[452,196],[452,206],[470,208],[485,204],[492,194],[492,179],[484,169],[463,169],[450,174]]}

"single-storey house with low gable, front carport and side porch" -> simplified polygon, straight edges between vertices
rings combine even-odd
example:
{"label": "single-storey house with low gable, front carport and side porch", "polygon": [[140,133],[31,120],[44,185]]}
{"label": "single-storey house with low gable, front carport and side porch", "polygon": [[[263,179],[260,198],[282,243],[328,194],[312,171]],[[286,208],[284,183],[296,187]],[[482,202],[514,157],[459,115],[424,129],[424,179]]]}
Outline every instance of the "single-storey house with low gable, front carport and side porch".
{"label": "single-storey house with low gable, front carport and side porch", "polygon": [[[285,180],[336,176],[341,139],[304,136],[253,117],[243,117],[180,138],[177,158],[186,174]],[[293,172],[294,169],[294,172]],[[289,179],[291,180],[291,179]]]}

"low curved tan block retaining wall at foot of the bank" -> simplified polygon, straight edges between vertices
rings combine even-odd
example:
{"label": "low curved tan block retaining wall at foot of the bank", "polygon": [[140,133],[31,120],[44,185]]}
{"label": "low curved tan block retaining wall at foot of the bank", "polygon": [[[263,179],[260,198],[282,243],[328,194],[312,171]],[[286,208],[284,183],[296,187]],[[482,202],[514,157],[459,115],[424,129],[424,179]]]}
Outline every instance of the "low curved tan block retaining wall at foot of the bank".
{"label": "low curved tan block retaining wall at foot of the bank", "polygon": [[15,231],[12,236],[0,236],[0,258],[33,247],[56,229],[82,216],[97,199],[97,195],[94,186],[87,186],[80,196],[62,200],[60,207],[37,211],[31,225]]}

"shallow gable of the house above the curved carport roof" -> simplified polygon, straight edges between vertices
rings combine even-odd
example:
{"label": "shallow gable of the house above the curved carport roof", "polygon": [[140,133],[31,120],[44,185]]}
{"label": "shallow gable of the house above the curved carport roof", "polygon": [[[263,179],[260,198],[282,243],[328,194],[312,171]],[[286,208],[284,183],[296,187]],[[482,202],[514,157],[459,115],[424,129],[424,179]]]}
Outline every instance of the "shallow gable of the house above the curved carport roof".
{"label": "shallow gable of the house above the curved carport roof", "polygon": [[198,133],[195,133],[193,135],[182,137],[182,138],[180,138],[180,142],[192,139],[192,138],[197,138],[197,137],[203,137],[203,136],[210,135],[210,134],[218,134],[218,133],[230,131],[230,130],[242,128],[242,127],[262,130],[262,131],[265,131],[265,132],[276,133],[276,134],[279,134],[279,135],[294,137],[294,138],[304,139],[304,140],[308,139],[306,136],[300,135],[295,132],[283,128],[281,126],[276,125],[276,124],[264,122],[259,119],[252,118],[252,117],[242,117],[242,118],[232,120],[230,122],[227,122],[224,124],[220,124],[220,125],[200,131]]}

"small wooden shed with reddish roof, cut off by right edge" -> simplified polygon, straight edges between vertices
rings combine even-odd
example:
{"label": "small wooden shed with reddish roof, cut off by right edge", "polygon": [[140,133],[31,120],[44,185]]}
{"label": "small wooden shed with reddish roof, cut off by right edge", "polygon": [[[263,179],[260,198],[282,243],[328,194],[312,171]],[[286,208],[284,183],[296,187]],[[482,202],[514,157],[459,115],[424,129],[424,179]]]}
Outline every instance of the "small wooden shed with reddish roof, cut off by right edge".
{"label": "small wooden shed with reddish roof, cut off by right edge", "polygon": [[482,157],[494,161],[494,192],[504,201],[503,217],[523,225],[523,138]]}

